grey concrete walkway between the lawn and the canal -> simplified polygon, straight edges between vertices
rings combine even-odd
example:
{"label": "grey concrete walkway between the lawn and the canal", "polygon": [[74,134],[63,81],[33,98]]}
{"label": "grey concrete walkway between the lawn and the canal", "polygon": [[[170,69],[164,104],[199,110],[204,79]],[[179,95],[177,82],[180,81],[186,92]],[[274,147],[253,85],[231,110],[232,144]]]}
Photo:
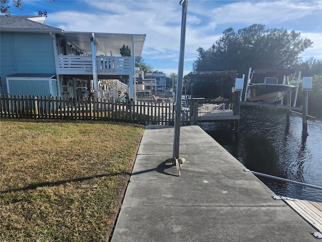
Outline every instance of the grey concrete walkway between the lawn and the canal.
{"label": "grey concrete walkway between the lawn and the canal", "polygon": [[146,127],[112,242],[317,242],[309,224],[198,126],[181,127],[178,177],[164,163],[173,136],[174,127]]}

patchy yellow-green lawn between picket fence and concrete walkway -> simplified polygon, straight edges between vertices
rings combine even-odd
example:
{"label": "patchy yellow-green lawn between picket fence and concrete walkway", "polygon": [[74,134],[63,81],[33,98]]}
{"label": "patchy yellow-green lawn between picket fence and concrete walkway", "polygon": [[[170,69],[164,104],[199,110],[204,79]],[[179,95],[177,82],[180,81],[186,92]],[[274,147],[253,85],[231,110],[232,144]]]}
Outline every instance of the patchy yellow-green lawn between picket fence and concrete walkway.
{"label": "patchy yellow-green lawn between picket fence and concrete walkway", "polygon": [[0,240],[108,241],[144,126],[2,119]]}

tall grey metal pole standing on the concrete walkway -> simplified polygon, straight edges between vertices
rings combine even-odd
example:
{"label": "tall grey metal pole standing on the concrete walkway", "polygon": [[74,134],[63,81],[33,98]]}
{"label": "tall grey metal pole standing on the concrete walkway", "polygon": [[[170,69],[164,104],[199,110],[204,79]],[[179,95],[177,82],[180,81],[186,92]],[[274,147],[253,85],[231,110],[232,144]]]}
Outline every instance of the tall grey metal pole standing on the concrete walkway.
{"label": "tall grey metal pole standing on the concrete walkway", "polygon": [[175,112],[176,112],[175,113],[175,135],[174,135],[174,144],[173,144],[173,158],[177,158],[177,159],[179,159],[181,106],[182,106],[181,96],[182,96],[184,57],[185,57],[185,38],[186,38],[188,0],[181,1],[180,5],[182,5],[181,42],[180,42],[180,57],[179,57],[176,106],[175,106]]}

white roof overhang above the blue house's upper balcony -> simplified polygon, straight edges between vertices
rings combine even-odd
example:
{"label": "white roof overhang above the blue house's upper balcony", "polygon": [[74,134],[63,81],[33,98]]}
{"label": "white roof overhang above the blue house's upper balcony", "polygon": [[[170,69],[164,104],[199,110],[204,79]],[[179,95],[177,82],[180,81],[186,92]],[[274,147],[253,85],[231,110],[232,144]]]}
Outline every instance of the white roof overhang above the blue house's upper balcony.
{"label": "white roof overhang above the blue house's upper balcony", "polygon": [[[91,36],[92,32],[68,32],[63,31],[63,35],[70,41],[74,42],[78,47],[87,53],[91,53]],[[123,44],[132,50],[132,42],[134,42],[134,55],[142,54],[145,41],[145,34],[113,34],[113,33],[94,33],[96,43],[96,54],[102,55],[120,55],[120,48]]]}

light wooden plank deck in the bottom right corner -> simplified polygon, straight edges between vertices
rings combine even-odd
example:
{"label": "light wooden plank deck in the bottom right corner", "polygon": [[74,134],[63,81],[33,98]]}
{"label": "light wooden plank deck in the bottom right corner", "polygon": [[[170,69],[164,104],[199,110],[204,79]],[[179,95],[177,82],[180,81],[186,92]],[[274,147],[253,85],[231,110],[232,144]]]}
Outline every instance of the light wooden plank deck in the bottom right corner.
{"label": "light wooden plank deck in the bottom right corner", "polygon": [[[308,222],[317,232],[312,232],[316,238],[322,238],[322,203],[280,197],[298,215]],[[275,199],[276,199],[275,197]]]}

